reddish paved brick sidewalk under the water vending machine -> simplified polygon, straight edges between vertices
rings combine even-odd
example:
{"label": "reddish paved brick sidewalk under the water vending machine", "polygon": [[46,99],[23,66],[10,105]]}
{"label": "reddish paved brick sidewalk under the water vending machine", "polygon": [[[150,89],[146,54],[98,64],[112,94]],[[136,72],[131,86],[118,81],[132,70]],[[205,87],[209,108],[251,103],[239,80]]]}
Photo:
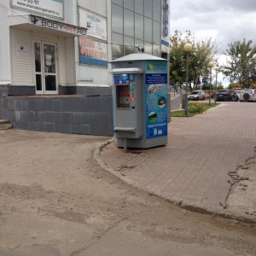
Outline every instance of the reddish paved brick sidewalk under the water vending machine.
{"label": "reddish paved brick sidewalk under the water vending machine", "polygon": [[244,212],[226,206],[232,174],[254,157],[255,113],[253,102],[223,102],[193,118],[172,118],[166,146],[125,153],[109,143],[100,161],[125,182],[182,207],[255,220],[256,214],[247,214],[256,213],[255,202]]}

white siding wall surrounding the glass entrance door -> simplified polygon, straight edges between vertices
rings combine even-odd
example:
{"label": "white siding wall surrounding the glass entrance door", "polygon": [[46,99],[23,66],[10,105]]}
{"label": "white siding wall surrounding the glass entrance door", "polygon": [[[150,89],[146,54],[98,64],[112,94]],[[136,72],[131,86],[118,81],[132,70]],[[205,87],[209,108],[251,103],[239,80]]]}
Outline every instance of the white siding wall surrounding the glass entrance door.
{"label": "white siding wall surrounding the glass entrance door", "polygon": [[[74,44],[73,38],[61,38],[47,32],[22,30],[15,26],[11,29],[11,67],[13,85],[36,85],[34,79],[34,42],[57,44],[57,68],[59,84],[75,84]],[[26,47],[27,55],[18,55],[20,46]]]}

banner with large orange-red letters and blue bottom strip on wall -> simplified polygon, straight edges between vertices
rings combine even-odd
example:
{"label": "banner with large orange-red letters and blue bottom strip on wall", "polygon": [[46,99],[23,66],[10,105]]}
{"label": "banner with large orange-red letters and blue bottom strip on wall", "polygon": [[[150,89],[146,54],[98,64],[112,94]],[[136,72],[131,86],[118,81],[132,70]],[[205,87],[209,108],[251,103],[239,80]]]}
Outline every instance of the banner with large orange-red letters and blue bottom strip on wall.
{"label": "banner with large orange-red letters and blue bottom strip on wall", "polygon": [[81,64],[108,67],[107,44],[89,38],[79,38],[79,49]]}

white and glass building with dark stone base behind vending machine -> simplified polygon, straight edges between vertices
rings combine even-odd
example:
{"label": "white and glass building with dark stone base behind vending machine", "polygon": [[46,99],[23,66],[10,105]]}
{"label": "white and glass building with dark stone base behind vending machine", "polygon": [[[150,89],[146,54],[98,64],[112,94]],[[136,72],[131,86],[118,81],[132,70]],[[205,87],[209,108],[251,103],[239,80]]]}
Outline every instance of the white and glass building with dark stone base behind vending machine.
{"label": "white and glass building with dark stone base behind vending machine", "polygon": [[4,0],[0,119],[18,129],[113,135],[112,61],[168,58],[166,0]]}

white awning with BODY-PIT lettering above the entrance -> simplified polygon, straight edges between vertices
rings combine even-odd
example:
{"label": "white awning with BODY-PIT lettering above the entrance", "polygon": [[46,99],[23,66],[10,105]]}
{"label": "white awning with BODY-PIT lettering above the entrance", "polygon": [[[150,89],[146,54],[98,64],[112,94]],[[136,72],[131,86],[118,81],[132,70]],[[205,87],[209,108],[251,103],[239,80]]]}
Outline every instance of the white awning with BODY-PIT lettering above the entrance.
{"label": "white awning with BODY-PIT lettering above the entrance", "polygon": [[41,29],[57,33],[65,33],[73,37],[86,36],[87,28],[63,23],[59,20],[50,20],[38,15],[17,15],[9,17],[9,26],[22,26],[28,29]]}

